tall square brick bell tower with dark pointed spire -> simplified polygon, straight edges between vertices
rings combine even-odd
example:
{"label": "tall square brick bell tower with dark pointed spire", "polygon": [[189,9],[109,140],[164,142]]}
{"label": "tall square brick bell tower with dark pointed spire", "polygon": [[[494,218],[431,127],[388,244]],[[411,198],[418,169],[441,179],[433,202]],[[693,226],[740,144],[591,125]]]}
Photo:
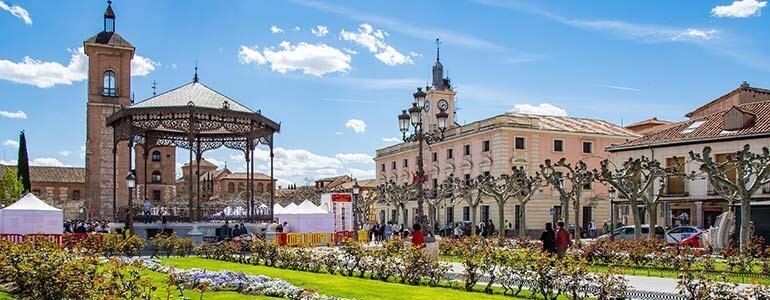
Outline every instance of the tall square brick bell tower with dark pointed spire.
{"label": "tall square brick bell tower with dark pointed spire", "polygon": [[[112,1],[107,1],[102,32],[85,40],[83,46],[88,56],[86,201],[93,217],[118,221],[122,212],[117,209],[128,202],[128,188],[124,182],[130,169],[130,154],[127,142],[113,148],[113,130],[107,127],[106,119],[121,106],[131,105],[131,59],[135,49],[115,32]],[[116,158],[114,162],[113,157]],[[116,169],[113,169],[113,163]],[[115,178],[117,207],[113,205]]]}

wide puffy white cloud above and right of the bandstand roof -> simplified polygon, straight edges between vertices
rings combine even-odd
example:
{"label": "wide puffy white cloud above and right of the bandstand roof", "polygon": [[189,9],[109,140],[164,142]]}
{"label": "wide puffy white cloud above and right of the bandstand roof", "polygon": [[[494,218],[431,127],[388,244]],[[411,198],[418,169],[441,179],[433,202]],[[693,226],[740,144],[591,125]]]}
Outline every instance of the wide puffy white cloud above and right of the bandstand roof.
{"label": "wide puffy white cloud above and right of the bandstand roof", "polygon": [[241,46],[238,59],[243,64],[256,62],[270,63],[270,68],[278,73],[302,71],[304,74],[322,77],[327,73],[348,72],[350,55],[326,44],[308,44],[300,42],[292,45],[281,42],[278,49],[265,48],[260,53],[257,47]]}

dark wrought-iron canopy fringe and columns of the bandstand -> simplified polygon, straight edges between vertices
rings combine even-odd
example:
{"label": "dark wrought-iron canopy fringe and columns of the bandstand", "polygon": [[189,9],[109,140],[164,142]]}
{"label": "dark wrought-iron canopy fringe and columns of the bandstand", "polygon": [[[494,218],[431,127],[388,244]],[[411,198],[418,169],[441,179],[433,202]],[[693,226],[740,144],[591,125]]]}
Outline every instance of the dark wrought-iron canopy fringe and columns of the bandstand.
{"label": "dark wrought-iron canopy fringe and columns of the bandstand", "polygon": [[[133,144],[141,144],[145,154],[146,150],[153,146],[174,146],[189,150],[190,177],[198,173],[192,170],[193,154],[195,154],[195,159],[199,165],[204,152],[226,147],[243,152],[248,162],[251,161],[256,147],[265,145],[270,150],[271,187],[275,186],[273,174],[274,135],[280,132],[281,125],[263,116],[260,112],[231,110],[229,105],[223,105],[222,108],[200,107],[195,106],[192,101],[187,106],[128,106],[122,107],[109,116],[107,126],[114,130],[113,149],[117,148],[121,141],[132,141]],[[116,169],[114,164],[113,169]],[[247,167],[246,172],[249,178],[254,178],[253,167]],[[193,188],[193,181],[196,182],[197,188]],[[113,184],[115,184],[114,181]],[[202,196],[200,184],[199,176],[191,178],[189,182],[188,214],[190,220],[194,220],[196,217],[201,218],[200,212],[198,214],[193,212],[195,209],[193,194],[196,194],[197,191],[195,196],[198,198]],[[116,202],[117,198],[115,190],[113,187],[113,203]],[[274,190],[274,188],[271,189],[270,213],[255,214],[253,213],[256,209],[254,193],[249,189],[248,203],[251,207],[249,213],[251,220],[255,220],[255,216],[264,221],[272,220],[272,207],[275,202]],[[197,206],[200,207],[200,204]]]}

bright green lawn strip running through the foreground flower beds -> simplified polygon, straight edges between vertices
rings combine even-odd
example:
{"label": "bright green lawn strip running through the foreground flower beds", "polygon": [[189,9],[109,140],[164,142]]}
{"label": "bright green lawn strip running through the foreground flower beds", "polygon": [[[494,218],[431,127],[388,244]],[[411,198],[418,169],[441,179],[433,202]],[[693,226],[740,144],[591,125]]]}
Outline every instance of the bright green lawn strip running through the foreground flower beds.
{"label": "bright green lawn strip running through the foreground flower beds", "polygon": [[[328,273],[311,273],[284,270],[266,266],[252,266],[239,263],[209,260],[204,258],[168,258],[163,263],[181,268],[200,268],[212,271],[241,271],[254,275],[265,275],[286,280],[296,286],[315,290],[328,296],[356,299],[511,299],[502,294],[489,295],[481,292],[466,292],[449,287],[411,286],[394,282],[382,282],[366,278],[351,278]],[[480,288],[480,286],[477,286]],[[529,298],[522,291],[522,298]],[[205,299],[209,299],[206,297]],[[213,299],[213,298],[212,298]]]}

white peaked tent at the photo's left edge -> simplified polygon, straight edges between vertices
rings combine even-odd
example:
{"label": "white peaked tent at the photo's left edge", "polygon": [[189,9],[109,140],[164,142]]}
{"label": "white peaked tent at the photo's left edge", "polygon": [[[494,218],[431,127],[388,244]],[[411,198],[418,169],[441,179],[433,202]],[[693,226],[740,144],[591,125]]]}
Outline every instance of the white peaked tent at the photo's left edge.
{"label": "white peaked tent at the photo's left edge", "polygon": [[0,209],[0,234],[62,234],[64,213],[32,193]]}

